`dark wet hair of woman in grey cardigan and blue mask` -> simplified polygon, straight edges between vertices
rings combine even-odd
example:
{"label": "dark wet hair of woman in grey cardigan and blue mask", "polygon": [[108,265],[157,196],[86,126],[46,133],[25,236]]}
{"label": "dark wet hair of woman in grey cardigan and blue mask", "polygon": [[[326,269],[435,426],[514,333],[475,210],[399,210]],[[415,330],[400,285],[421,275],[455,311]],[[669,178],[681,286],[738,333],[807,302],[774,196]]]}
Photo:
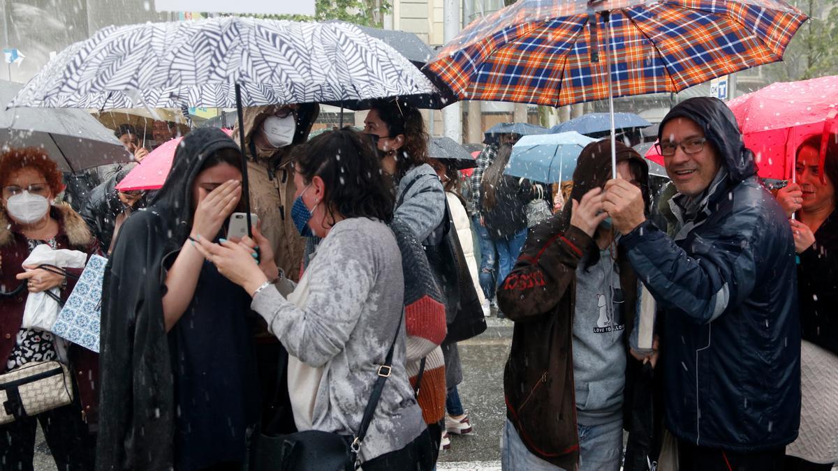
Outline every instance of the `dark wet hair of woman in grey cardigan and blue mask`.
{"label": "dark wet hair of woman in grey cardigan and blue mask", "polygon": [[323,204],[334,224],[334,211],[345,218],[393,219],[395,196],[385,182],[381,163],[370,142],[351,129],[323,132],[292,150],[307,184],[315,176],[326,185]]}

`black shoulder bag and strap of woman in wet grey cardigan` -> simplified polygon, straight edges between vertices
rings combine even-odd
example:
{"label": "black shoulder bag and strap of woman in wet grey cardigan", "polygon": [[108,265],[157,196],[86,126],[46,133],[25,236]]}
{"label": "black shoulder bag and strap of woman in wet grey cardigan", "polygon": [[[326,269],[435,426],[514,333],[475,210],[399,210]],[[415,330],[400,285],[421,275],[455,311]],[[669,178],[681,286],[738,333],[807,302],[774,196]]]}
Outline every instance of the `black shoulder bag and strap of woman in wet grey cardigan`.
{"label": "black shoulder bag and strap of woman in wet grey cardigan", "polygon": [[[253,444],[249,466],[251,471],[353,471],[360,466],[358,453],[384,391],[385,382],[391,374],[393,350],[396,348],[403,317],[399,317],[396,335],[384,364],[378,367],[378,377],[370,401],[367,401],[358,433],[354,437],[320,430],[285,435],[259,433]],[[284,369],[280,368],[280,375],[283,373]]]}

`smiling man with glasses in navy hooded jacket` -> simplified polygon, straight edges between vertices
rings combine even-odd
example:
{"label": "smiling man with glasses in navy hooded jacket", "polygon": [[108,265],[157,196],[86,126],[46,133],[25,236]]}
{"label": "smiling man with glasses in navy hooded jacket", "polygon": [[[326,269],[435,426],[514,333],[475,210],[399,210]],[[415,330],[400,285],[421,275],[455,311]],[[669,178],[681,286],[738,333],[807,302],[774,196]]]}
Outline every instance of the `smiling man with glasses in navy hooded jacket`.
{"label": "smiling man with glasses in navy hooded jacket", "polygon": [[658,139],[677,189],[674,237],[645,220],[639,190],[624,180],[608,182],[603,208],[657,302],[680,470],[782,469],[800,410],[789,223],[722,101],[683,101]]}

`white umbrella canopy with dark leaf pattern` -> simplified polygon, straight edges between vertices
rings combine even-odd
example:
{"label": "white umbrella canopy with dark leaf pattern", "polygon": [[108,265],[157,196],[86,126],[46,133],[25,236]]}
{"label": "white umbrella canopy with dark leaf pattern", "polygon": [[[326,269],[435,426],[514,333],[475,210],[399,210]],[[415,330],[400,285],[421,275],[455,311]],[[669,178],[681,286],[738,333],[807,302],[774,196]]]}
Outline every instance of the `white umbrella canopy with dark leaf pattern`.
{"label": "white umbrella canopy with dark leaf pattern", "polygon": [[391,46],[347,23],[221,17],[101,29],[29,80],[12,106],[232,108],[432,93]]}

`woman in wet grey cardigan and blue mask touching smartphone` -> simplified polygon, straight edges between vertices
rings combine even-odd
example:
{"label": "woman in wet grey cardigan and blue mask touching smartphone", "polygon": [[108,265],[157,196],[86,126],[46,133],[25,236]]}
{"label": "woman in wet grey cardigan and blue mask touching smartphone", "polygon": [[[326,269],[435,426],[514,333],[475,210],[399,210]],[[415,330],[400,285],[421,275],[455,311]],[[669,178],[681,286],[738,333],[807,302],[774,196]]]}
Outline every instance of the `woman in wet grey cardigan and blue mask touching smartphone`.
{"label": "woman in wet grey cardigan and blue mask touching smartphone", "polygon": [[[432,468],[431,439],[407,380],[401,254],[386,223],[393,197],[375,153],[356,132],[326,132],[297,148],[292,217],[323,238],[287,298],[251,257],[253,242],[195,246],[245,288],[290,355],[288,392],[299,431],[356,436],[396,335],[391,375],[360,446],[365,471]],[[258,233],[266,256],[269,246]],[[270,257],[266,257],[270,258]]]}

